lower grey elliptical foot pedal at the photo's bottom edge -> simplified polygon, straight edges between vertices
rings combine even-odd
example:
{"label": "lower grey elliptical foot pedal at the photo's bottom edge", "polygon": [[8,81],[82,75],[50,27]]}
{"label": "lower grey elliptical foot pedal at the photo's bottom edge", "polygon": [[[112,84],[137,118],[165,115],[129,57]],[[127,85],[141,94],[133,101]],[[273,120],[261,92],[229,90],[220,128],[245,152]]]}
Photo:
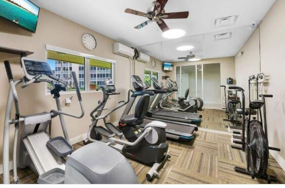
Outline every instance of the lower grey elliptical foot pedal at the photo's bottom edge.
{"label": "lower grey elliptical foot pedal at the photo's bottom edge", "polygon": [[63,184],[64,170],[61,168],[54,168],[46,173],[40,175],[37,179],[38,184]]}

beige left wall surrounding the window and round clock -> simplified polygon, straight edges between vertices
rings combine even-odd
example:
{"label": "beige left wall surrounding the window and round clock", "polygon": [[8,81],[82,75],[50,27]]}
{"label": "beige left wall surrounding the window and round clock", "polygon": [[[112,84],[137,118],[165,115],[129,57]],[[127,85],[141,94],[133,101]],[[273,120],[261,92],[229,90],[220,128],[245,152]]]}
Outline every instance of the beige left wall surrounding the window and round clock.
{"label": "beige left wall surrounding the window and round clock", "polygon": [[[80,38],[83,33],[89,32],[97,39],[97,48],[95,51],[88,51],[82,45]],[[38,60],[46,60],[45,45],[50,44],[81,53],[91,54],[107,59],[117,61],[115,66],[115,82],[116,87],[121,95],[112,97],[107,105],[108,108],[115,107],[121,100],[127,100],[127,91],[130,89],[130,72],[131,64],[128,58],[117,56],[113,54],[113,39],[108,38],[102,34],[96,33],[86,27],[78,25],[45,9],[41,9],[39,14],[39,21],[37,31],[35,34],[27,32],[16,25],[0,20],[0,41],[1,46],[8,48],[28,50],[34,52],[30,58]],[[3,59],[1,59],[3,60]],[[161,71],[161,62],[157,61],[157,70]],[[141,64],[140,70],[144,69],[149,64]],[[21,78],[23,70],[19,64],[12,65],[14,78]],[[0,134],[3,134],[4,115],[6,108],[6,100],[8,96],[8,81],[4,68],[3,61],[0,62],[0,80],[3,89],[0,90]],[[20,112],[21,115],[33,114],[43,111],[50,111],[56,109],[56,104],[51,96],[45,95],[45,84],[33,84],[28,89],[21,89],[18,87]],[[74,100],[70,107],[64,104],[65,98],[70,98],[72,95],[62,95],[61,102],[63,111],[79,114],[79,106],[74,96]],[[98,104],[98,100],[102,98],[102,92],[97,93],[83,93],[83,105],[85,107],[85,116],[82,119],[74,119],[65,117],[69,137],[73,138],[87,132],[91,124],[89,113]],[[124,109],[118,110],[111,116],[111,121],[119,119]],[[13,128],[11,128],[11,133]],[[53,121],[52,136],[62,135],[62,130],[58,118]],[[2,163],[2,136],[0,136],[0,163]]]}

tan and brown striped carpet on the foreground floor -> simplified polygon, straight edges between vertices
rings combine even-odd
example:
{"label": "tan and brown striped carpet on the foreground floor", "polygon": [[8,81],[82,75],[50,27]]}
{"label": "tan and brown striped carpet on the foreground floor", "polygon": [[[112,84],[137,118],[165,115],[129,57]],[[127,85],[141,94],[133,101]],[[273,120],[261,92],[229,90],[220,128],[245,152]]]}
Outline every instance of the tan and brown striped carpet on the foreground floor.
{"label": "tan and brown striped carpet on the foreground floor", "polygon": [[[211,113],[215,112],[213,110]],[[206,112],[206,111],[205,111]],[[220,112],[222,114],[222,112]],[[215,118],[207,117],[205,119]],[[219,116],[217,119],[221,119]],[[213,119],[214,123],[217,119]],[[234,166],[245,167],[245,153],[230,147],[230,136],[205,131],[197,131],[195,139],[190,143],[179,143],[169,140],[171,159],[159,171],[159,178],[148,182],[145,174],[150,169],[138,162],[130,160],[140,183],[197,184],[197,183],[266,183],[263,179],[251,179],[250,176],[234,171]],[[82,147],[82,143],[74,145],[74,149]],[[269,173],[285,183],[285,172],[274,159],[269,160]],[[20,170],[21,183],[35,183],[37,176],[29,169]],[[11,181],[12,181],[11,171]],[[2,182],[2,176],[0,177]]]}

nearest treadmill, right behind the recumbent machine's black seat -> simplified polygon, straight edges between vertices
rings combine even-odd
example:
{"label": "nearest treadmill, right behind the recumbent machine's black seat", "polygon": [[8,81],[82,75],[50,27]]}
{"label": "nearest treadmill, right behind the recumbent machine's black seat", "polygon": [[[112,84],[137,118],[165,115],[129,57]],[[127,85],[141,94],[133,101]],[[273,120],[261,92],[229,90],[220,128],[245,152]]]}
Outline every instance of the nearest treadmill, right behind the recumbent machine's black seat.
{"label": "nearest treadmill, right behind the recumbent machine's black seat", "polygon": [[[139,76],[133,75],[132,76],[132,82],[133,86],[136,91],[130,90],[129,92],[133,92],[132,96],[128,100],[128,104],[126,106],[126,109],[121,117],[124,117],[130,113],[130,110],[138,96],[143,96],[145,94],[154,96],[155,93],[166,93],[163,89],[145,89],[145,85],[141,78]],[[152,117],[145,117],[144,122],[139,125],[141,128],[144,128],[147,124],[149,124],[152,121],[162,121],[167,124],[166,127],[166,136],[168,138],[176,139],[176,140],[182,140],[182,141],[190,141],[194,138],[194,131],[198,130],[197,125],[189,124],[189,123],[183,123],[183,122],[175,122],[174,120],[166,120],[166,119],[158,119],[158,118],[152,118]],[[121,123],[119,122],[119,125]]]}

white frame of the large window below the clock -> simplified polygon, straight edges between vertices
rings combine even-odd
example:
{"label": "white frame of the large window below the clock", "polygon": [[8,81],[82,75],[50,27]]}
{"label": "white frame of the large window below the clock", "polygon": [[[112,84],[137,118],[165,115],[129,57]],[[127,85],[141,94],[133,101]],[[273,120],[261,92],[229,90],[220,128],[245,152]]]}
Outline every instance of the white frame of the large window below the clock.
{"label": "white frame of the large window below the clock", "polygon": [[[85,90],[84,91],[80,91],[81,93],[95,93],[95,92],[102,92],[101,90],[96,91],[96,90],[90,90],[90,78],[89,78],[89,67],[90,67],[90,63],[89,63],[89,59],[95,59],[95,60],[100,60],[100,61],[105,61],[107,63],[111,63],[111,77],[115,83],[115,64],[117,63],[115,60],[111,60],[111,59],[107,59],[107,58],[102,58],[102,57],[98,57],[98,56],[94,56],[94,55],[90,55],[90,54],[85,54],[85,53],[80,53],[80,52],[76,52],[76,51],[72,51],[72,50],[68,50],[68,49],[63,49],[57,46],[53,46],[53,45],[49,45],[46,44],[46,61],[48,61],[48,51],[56,51],[56,52],[61,52],[61,53],[66,53],[66,54],[70,54],[70,55],[74,55],[74,56],[80,56],[80,57],[84,57],[84,70],[85,70]],[[77,78],[79,80],[79,76]],[[79,82],[79,81],[78,81]],[[48,91],[47,89],[47,85],[48,83],[45,83],[45,95],[46,96],[50,96],[51,92]],[[76,91],[61,91],[60,92],[61,95],[72,95],[72,94],[76,94]]]}

